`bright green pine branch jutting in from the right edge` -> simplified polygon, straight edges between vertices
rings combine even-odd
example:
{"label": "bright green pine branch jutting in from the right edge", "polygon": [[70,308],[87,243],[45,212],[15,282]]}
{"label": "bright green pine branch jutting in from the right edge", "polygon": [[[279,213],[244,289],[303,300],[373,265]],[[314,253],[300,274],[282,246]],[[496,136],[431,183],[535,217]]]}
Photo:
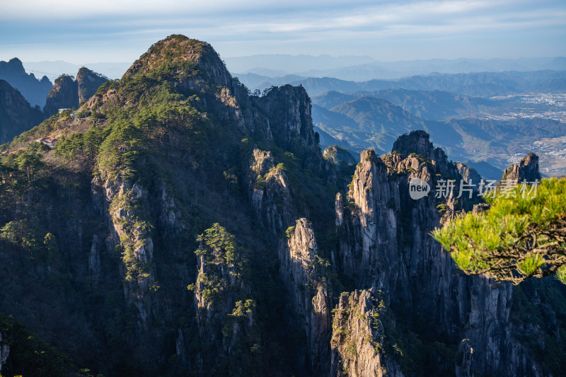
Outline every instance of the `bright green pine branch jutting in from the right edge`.
{"label": "bright green pine branch jutting in from the right edge", "polygon": [[432,236],[467,274],[519,284],[555,274],[566,284],[566,180],[519,185],[486,198],[490,209],[468,213]]}

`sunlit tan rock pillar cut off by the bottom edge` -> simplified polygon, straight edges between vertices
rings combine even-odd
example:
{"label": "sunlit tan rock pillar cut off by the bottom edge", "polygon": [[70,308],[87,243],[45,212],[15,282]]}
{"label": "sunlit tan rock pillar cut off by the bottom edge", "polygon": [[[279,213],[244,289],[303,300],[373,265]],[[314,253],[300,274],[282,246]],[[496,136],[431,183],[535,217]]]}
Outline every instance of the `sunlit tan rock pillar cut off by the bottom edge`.
{"label": "sunlit tan rock pillar cut off by the bottom edge", "polygon": [[386,332],[374,290],[343,293],[335,309],[330,376],[403,376],[393,359],[384,357]]}

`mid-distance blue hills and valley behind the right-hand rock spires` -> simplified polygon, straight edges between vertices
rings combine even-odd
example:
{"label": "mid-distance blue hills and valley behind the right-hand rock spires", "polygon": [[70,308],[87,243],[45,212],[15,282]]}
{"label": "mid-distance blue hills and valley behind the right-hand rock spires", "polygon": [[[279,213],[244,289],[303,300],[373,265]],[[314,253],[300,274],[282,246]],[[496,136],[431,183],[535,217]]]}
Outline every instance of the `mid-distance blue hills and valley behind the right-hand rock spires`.
{"label": "mid-distance blue hills and valley behind the right-hand rock spires", "polygon": [[540,116],[487,119],[490,112],[521,111],[521,104],[507,100],[400,88],[357,93],[330,91],[312,101],[313,124],[323,147],[337,144],[354,153],[368,148],[386,153],[399,134],[424,129],[450,158],[468,161],[485,178],[498,179],[511,156],[541,145],[542,139],[558,143],[558,152],[543,153],[545,165],[553,166],[551,156],[560,157],[560,145],[566,141],[566,124],[558,120]]}

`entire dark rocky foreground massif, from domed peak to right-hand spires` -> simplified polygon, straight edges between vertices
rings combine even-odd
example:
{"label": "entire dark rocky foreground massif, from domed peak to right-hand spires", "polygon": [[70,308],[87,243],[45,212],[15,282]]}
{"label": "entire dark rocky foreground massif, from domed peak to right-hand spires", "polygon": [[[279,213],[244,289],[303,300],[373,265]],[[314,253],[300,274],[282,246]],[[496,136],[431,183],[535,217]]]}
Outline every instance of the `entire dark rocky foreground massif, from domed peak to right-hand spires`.
{"label": "entire dark rocky foreground massif, from domed peak to right-hand spires", "polygon": [[[541,334],[543,346],[564,347],[553,335],[562,314],[544,295],[550,309],[466,277],[428,236],[478,198],[458,199],[458,184],[434,197],[439,180],[461,175],[424,132],[337,169],[318,147],[304,88],[250,95],[212,46],[172,35],[74,118],[55,115],[10,147],[45,134],[61,137],[53,150],[31,144],[0,160],[0,311],[76,369],[543,376],[556,367],[527,350]],[[410,178],[432,193],[411,199]],[[513,317],[526,306],[533,318],[556,313],[557,325]]]}

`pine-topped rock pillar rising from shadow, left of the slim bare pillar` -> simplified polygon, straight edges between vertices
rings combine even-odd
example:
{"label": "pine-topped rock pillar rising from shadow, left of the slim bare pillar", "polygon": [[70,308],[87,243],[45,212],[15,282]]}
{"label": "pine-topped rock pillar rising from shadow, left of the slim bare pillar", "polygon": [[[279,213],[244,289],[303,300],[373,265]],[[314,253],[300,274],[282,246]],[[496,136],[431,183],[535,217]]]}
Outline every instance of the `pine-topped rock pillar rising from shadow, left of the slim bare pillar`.
{"label": "pine-topped rock pillar rising from shadow, left of the slim bare pillar", "polygon": [[[246,256],[236,245],[228,246],[233,250],[226,249],[230,241],[218,242],[218,238],[225,241],[230,238],[226,233],[221,234],[224,231],[215,224],[214,236],[207,235],[206,240],[199,238],[197,277],[190,286],[194,292],[200,343],[196,371],[199,376],[214,374],[220,364],[228,364],[224,368],[229,374],[241,374],[241,363],[230,363],[230,357],[246,354],[247,350],[241,349],[246,342],[261,342],[255,331],[255,301],[250,298],[249,282],[243,277],[243,269],[248,268]],[[236,370],[230,364],[236,364]]]}

